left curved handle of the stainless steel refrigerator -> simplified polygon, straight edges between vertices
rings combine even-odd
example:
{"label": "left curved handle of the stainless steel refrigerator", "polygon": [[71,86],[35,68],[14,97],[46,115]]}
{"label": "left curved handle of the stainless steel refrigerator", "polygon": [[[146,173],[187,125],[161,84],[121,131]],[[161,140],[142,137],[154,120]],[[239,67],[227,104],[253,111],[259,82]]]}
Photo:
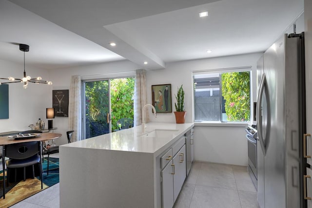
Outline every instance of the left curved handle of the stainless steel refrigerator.
{"label": "left curved handle of the stainless steel refrigerator", "polygon": [[264,143],[264,138],[262,135],[262,116],[261,116],[261,103],[262,103],[262,96],[263,96],[263,91],[265,90],[265,93],[267,93],[266,90],[266,78],[265,74],[262,74],[261,81],[260,81],[260,87],[259,87],[259,92],[258,92],[258,100],[257,100],[257,129],[258,129],[258,137],[259,137],[259,142],[261,146],[261,150],[263,152],[263,155],[266,155],[266,149],[265,149],[265,143]]}

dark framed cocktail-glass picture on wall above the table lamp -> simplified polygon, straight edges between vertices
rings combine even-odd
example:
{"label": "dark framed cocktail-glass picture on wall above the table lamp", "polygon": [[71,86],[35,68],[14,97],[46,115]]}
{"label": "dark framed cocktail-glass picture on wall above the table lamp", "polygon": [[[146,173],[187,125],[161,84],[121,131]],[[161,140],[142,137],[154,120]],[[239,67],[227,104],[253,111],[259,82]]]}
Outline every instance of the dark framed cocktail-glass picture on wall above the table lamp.
{"label": "dark framed cocktail-glass picture on wall above the table lamp", "polygon": [[68,117],[68,94],[69,90],[53,90],[52,101],[55,116]]}

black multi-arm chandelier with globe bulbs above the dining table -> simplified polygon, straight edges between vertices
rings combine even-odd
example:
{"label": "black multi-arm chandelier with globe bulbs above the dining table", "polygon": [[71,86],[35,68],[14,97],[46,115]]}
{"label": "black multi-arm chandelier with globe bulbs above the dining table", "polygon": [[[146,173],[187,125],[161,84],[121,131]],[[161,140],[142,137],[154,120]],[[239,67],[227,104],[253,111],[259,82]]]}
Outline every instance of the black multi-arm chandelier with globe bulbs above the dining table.
{"label": "black multi-arm chandelier with globe bulbs above the dining table", "polygon": [[26,76],[26,71],[25,71],[25,52],[29,51],[29,45],[20,44],[20,51],[24,52],[24,77],[21,78],[21,79],[20,78],[14,78],[12,76],[9,76],[8,78],[0,78],[0,79],[9,80],[9,81],[6,81],[6,82],[0,82],[0,85],[1,84],[10,84],[10,83],[15,83],[15,82],[22,82],[24,84],[23,85],[24,89],[27,88],[29,82],[33,82],[35,84],[41,83],[41,84],[52,85],[51,81],[44,81],[44,80],[42,80],[41,76],[38,76],[37,78],[31,78],[30,76]]}

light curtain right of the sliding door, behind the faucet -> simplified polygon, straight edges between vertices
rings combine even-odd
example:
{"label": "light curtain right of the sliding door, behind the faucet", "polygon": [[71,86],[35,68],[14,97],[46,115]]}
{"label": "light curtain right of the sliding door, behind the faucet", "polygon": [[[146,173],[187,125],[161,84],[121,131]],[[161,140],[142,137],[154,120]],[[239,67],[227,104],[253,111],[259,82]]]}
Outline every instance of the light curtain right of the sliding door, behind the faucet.
{"label": "light curtain right of the sliding door, behind the faucet", "polygon": [[[146,74],[146,70],[144,70],[144,69],[138,69],[136,71],[134,126],[141,125],[141,123],[142,123],[142,107],[147,102],[146,78],[145,78],[146,75],[145,74]],[[146,121],[148,121],[148,113],[147,112],[146,112]]]}

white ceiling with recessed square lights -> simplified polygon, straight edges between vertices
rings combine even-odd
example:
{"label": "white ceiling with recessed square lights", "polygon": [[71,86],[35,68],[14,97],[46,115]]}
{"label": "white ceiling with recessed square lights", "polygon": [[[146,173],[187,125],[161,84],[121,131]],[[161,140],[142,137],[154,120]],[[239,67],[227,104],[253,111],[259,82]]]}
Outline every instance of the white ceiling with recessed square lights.
{"label": "white ceiling with recessed square lights", "polygon": [[[0,59],[22,62],[18,43],[30,45],[26,63],[42,69],[123,59],[140,68],[160,69],[167,62],[263,52],[303,12],[303,4],[303,0],[0,0]],[[202,11],[209,16],[199,18]]]}

